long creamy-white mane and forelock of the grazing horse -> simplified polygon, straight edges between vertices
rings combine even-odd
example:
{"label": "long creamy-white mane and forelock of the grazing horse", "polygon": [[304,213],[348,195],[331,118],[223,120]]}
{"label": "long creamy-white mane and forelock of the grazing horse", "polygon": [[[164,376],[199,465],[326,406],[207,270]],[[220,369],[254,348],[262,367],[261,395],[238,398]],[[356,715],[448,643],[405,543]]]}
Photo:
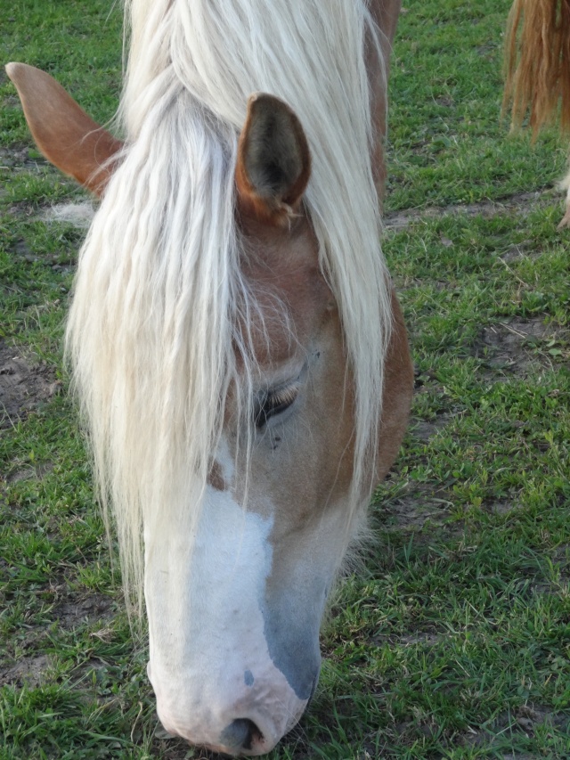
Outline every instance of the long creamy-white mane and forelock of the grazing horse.
{"label": "long creamy-white mane and forelock of the grazing horse", "polygon": [[[248,96],[279,96],[312,152],[305,200],[356,388],[355,487],[376,446],[390,324],[365,35],[366,0],[130,0],[125,159],[81,251],[68,354],[127,592],[141,601],[161,524],[199,514],[247,303],[233,167]],[[356,500],[356,496],[355,496]],[[356,506],[356,504],[354,504]]]}

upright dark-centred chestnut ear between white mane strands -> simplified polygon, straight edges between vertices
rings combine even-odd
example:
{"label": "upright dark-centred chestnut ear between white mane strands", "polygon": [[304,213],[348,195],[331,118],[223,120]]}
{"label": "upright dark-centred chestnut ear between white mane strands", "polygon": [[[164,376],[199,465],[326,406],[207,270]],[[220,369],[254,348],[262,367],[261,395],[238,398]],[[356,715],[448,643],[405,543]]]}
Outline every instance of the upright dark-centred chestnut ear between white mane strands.
{"label": "upright dark-centred chestnut ear between white mane strands", "polygon": [[297,213],[310,174],[309,145],[296,114],[273,95],[251,95],[235,169],[239,213],[286,225]]}

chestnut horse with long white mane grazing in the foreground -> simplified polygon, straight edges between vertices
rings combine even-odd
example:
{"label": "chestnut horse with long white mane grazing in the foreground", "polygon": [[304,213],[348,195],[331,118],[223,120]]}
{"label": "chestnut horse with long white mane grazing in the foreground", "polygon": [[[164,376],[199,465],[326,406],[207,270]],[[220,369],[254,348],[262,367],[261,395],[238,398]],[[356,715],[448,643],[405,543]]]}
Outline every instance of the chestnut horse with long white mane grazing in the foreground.
{"label": "chestnut horse with long white mane grazing in the foreground", "polygon": [[100,196],[66,345],[167,731],[262,755],[401,444],[412,372],[379,245],[399,0],[130,0],[120,115],[9,64]]}

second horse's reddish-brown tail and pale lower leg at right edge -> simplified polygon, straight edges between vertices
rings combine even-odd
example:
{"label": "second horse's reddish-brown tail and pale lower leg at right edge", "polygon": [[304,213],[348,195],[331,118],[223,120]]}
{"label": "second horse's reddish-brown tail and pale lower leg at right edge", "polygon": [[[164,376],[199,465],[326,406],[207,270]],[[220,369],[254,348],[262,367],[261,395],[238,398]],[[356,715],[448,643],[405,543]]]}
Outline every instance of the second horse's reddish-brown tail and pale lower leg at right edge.
{"label": "second horse's reddish-brown tail and pale lower leg at right edge", "polygon": [[[512,126],[528,114],[536,138],[558,111],[570,129],[570,2],[515,0],[505,42],[506,85],[503,110],[511,103]],[[558,184],[566,190],[566,213],[558,229],[570,226],[570,171]]]}

